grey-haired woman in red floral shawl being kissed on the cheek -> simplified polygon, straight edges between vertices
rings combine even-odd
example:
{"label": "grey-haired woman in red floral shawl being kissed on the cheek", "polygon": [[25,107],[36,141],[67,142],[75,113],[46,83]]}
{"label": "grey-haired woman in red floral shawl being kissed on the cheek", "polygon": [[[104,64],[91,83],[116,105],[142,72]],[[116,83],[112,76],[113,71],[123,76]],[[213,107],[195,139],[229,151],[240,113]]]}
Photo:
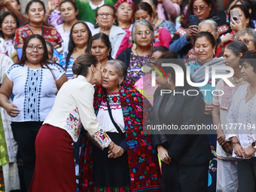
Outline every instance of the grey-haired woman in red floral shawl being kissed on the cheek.
{"label": "grey-haired woman in red floral shawl being kissed on the cheek", "polygon": [[161,191],[157,155],[151,136],[143,132],[145,106],[148,101],[126,81],[125,64],[108,61],[102,85],[95,88],[94,109],[99,125],[120,151],[113,154],[84,143],[79,191]]}

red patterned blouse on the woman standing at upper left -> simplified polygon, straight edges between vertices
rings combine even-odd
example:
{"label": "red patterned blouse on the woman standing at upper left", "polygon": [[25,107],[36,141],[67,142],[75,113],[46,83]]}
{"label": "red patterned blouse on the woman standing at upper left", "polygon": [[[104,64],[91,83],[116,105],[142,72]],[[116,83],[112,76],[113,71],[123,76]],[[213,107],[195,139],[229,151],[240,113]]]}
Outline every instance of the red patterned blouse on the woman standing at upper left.
{"label": "red patterned blouse on the woman standing at upper left", "polygon": [[[25,39],[29,36],[34,34],[28,25],[22,26],[17,29],[15,33],[15,41],[16,44],[23,44]],[[42,36],[45,40],[50,41],[53,46],[62,43],[62,38],[59,35],[59,32],[52,26],[43,26],[42,27]]]}

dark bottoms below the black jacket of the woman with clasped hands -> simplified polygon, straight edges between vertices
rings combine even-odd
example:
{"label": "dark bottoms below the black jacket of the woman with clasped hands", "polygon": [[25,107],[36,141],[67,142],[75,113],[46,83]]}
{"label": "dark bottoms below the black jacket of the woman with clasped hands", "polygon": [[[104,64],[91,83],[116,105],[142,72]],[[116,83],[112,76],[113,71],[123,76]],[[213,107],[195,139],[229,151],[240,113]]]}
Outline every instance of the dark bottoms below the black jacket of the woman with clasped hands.
{"label": "dark bottoms below the black jacket of the woman with clasped hands", "polygon": [[163,192],[206,192],[209,163],[195,166],[180,166],[173,161],[162,161]]}

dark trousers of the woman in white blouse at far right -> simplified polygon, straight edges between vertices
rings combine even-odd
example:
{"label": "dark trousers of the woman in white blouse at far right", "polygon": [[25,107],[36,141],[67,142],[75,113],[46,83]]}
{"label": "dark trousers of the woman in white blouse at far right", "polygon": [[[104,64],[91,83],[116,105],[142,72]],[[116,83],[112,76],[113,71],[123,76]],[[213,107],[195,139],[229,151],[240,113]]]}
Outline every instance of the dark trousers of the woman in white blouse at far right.
{"label": "dark trousers of the woman in white blouse at far right", "polygon": [[237,160],[239,192],[255,192],[256,157],[248,160]]}

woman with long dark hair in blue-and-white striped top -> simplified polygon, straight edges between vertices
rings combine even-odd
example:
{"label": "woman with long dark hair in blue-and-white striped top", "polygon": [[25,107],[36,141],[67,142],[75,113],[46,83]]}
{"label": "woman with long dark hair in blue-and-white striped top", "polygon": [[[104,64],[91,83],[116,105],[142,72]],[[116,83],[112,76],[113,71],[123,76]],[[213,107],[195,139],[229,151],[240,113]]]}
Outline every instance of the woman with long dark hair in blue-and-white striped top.
{"label": "woman with long dark hair in blue-and-white striped top", "polygon": [[74,78],[72,66],[75,59],[83,53],[89,53],[87,46],[92,33],[83,21],[74,23],[69,34],[69,51],[59,54],[59,65],[66,71],[68,79]]}

